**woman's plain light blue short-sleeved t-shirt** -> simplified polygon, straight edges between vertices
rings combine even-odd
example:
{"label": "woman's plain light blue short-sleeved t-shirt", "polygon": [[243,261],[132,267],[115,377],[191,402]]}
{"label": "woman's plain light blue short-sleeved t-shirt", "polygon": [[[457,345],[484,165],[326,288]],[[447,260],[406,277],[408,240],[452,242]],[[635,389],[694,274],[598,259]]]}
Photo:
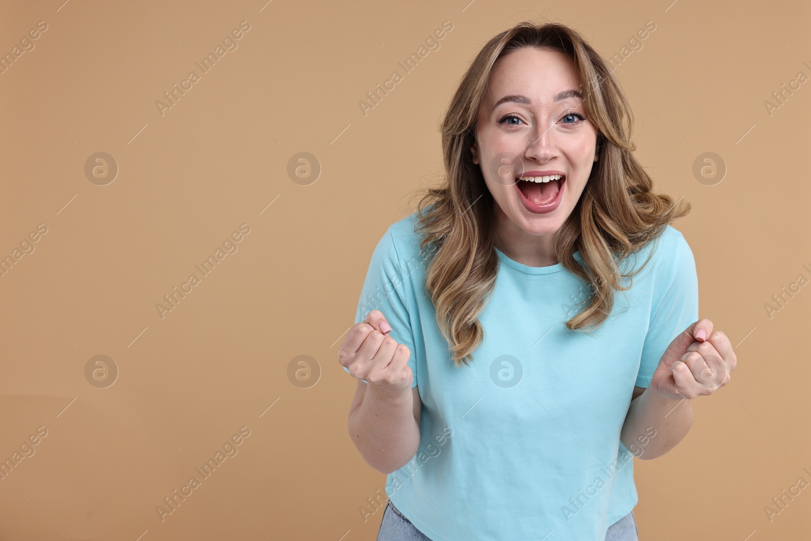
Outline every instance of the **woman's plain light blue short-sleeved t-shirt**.
{"label": "woman's plain light blue short-sleeved t-shirt", "polygon": [[530,267],[496,249],[484,339],[470,367],[455,367],[424,290],[434,252],[420,253],[416,219],[380,239],[355,316],[383,312],[411,351],[423,402],[418,451],[388,474],[386,495],[432,541],[602,541],[638,500],[620,442],[633,387],[650,384],[667,345],[698,319],[689,245],[667,225],[623,260],[627,273],[653,252],[588,334],[564,325],[585,282],[560,263]]}

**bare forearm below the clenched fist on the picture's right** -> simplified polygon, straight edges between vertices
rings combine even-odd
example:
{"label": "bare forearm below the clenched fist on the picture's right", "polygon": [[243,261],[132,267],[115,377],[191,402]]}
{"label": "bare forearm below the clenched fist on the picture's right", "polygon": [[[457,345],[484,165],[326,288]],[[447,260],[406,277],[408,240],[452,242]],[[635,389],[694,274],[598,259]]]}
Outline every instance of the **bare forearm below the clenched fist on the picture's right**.
{"label": "bare forearm below the clenched fist on the picture's right", "polygon": [[689,400],[670,400],[650,388],[631,401],[620,441],[635,456],[661,457],[676,446],[693,425]]}

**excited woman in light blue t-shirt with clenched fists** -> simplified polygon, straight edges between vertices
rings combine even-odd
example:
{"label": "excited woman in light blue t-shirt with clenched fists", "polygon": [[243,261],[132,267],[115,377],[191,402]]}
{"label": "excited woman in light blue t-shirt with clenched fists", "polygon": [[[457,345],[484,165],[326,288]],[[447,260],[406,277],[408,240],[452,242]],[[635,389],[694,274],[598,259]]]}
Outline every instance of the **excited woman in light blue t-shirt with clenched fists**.
{"label": "excited woman in light blue t-shirt with clenched fists", "polygon": [[562,24],[500,33],[461,79],[446,182],[380,239],[338,354],[388,474],[379,541],[637,539],[633,455],[672,449],[736,357],[632,118]]}

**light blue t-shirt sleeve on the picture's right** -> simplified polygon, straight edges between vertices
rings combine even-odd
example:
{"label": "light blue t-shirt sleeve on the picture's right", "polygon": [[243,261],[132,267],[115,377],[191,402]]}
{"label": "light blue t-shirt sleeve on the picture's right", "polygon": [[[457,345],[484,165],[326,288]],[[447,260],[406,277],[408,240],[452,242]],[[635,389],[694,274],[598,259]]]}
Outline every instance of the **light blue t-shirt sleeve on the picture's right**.
{"label": "light blue t-shirt sleeve on the picture's right", "polygon": [[[659,366],[664,350],[680,333],[698,320],[698,277],[693,251],[678,230],[671,243],[665,247],[659,239],[659,257],[671,259],[669,276],[654,281],[654,301],[651,307],[650,324],[642,346],[642,361],[637,373],[637,387],[647,387]],[[670,249],[667,249],[670,248]]]}

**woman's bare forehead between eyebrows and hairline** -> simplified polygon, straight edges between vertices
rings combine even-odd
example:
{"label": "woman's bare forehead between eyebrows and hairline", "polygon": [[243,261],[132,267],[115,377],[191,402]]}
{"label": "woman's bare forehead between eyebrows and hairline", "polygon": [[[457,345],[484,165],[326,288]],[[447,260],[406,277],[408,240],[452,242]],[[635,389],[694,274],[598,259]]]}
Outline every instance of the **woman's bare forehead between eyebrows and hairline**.
{"label": "woman's bare forehead between eyebrows and hairline", "polygon": [[581,88],[574,63],[558,50],[523,47],[499,58],[490,73],[485,101],[504,94],[523,94],[535,101],[551,101],[566,88]]}

